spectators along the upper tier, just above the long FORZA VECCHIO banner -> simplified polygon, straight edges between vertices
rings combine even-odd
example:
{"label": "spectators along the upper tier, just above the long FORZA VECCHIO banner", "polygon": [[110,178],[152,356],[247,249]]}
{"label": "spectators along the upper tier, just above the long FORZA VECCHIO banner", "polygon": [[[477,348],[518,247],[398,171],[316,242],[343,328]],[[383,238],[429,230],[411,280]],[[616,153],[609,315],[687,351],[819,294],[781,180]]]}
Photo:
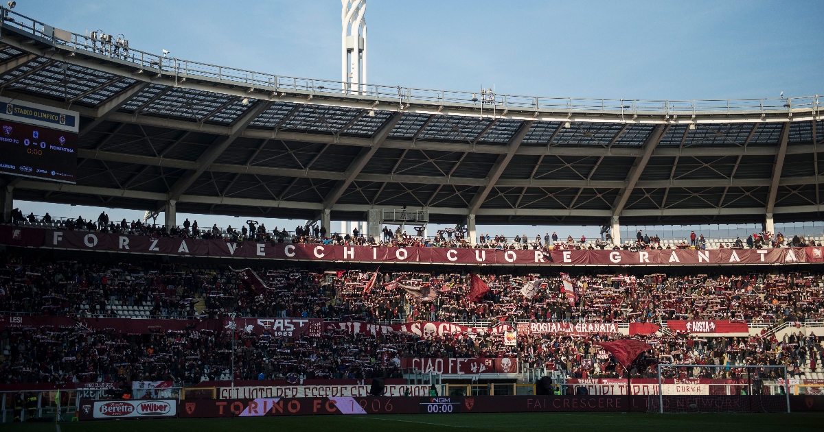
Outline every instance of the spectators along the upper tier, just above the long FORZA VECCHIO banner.
{"label": "spectators along the upper tier, just above the long FORZA VECCHIO banner", "polygon": [[[475,249],[624,249],[624,250],[649,250],[649,249],[707,249],[708,240],[702,234],[695,234],[691,232],[689,241],[686,239],[677,242],[664,242],[658,235],[648,235],[642,230],[636,233],[636,239],[633,242],[625,242],[623,244],[615,244],[612,241],[609,227],[602,227],[601,237],[595,241],[587,241],[585,236],[580,239],[574,239],[571,235],[567,238],[561,239],[558,234],[553,232],[545,233],[543,237],[540,234],[531,238],[524,235],[515,235],[514,238],[508,238],[505,235],[478,234],[475,239],[466,239],[467,231],[464,225],[456,225],[454,229],[447,228],[445,230],[438,230],[433,238],[424,236],[424,226],[414,226],[416,233],[410,235],[401,226],[396,227],[396,230],[391,230],[388,227],[382,229],[382,235],[376,239],[367,233],[358,231],[354,228],[352,233],[327,233],[325,227],[319,226],[317,223],[309,223],[306,225],[298,225],[294,230],[289,231],[286,228],[279,229],[275,227],[274,230],[269,231],[265,224],[257,221],[246,221],[245,225],[240,228],[233,228],[232,225],[225,229],[218,228],[215,224],[211,228],[201,227],[198,221],[190,222],[187,218],[180,226],[170,226],[148,224],[143,221],[110,221],[108,215],[101,212],[97,216],[96,221],[91,219],[84,219],[82,216],[77,216],[77,219],[54,219],[46,213],[42,217],[37,217],[34,213],[29,216],[24,216],[19,208],[12,211],[13,224],[29,223],[32,225],[43,224],[53,226],[55,228],[66,230],[90,230],[99,231],[103,233],[117,233],[121,235],[148,235],[156,237],[178,237],[191,239],[226,239],[227,241],[237,242],[243,240],[255,240],[259,242],[291,242],[291,243],[317,243],[317,244],[379,244],[391,246],[421,246],[421,247],[442,247],[442,248],[475,248]],[[474,240],[474,242],[473,242]],[[772,234],[767,231],[760,233],[753,233],[747,236],[746,239],[738,237],[733,241],[726,243],[719,243],[716,247],[719,249],[762,249],[762,248],[781,248],[781,247],[806,247],[806,246],[821,246],[820,242],[813,239],[805,239],[803,235],[794,235],[792,237],[784,236],[781,232]]]}

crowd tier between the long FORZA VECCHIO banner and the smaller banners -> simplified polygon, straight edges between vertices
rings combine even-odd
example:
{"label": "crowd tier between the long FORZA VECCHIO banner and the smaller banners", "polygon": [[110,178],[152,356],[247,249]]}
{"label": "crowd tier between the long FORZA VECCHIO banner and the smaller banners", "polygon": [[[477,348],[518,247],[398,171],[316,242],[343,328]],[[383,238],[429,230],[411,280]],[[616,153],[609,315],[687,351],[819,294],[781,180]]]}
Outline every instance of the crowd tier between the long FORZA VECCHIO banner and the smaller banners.
{"label": "crowd tier between the long FORZA VECCHIO banner and the smaller banners", "polygon": [[[580,274],[564,289],[558,272],[480,275],[489,292],[470,300],[469,272],[256,269],[250,286],[236,270],[157,262],[105,264],[10,256],[0,267],[0,312],[78,317],[304,317],[326,320],[460,323],[528,321],[660,322],[733,319],[751,323],[824,318],[824,275],[763,272],[709,276]],[[372,278],[369,290],[366,286]],[[538,288],[522,294],[527,282]],[[421,288],[428,295],[419,294]]]}

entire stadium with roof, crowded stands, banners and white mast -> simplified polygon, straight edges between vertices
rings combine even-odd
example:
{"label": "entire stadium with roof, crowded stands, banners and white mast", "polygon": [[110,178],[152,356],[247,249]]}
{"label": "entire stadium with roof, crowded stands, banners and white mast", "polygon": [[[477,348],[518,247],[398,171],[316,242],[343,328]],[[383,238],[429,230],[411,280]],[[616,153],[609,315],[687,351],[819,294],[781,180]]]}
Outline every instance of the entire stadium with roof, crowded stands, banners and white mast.
{"label": "entire stadium with roof, crowded stands, banners and white mast", "polygon": [[[341,81],[147,53],[13,3],[0,7],[4,425],[820,427],[819,96],[367,84],[365,0],[343,2]],[[646,229],[701,224],[759,228]]]}

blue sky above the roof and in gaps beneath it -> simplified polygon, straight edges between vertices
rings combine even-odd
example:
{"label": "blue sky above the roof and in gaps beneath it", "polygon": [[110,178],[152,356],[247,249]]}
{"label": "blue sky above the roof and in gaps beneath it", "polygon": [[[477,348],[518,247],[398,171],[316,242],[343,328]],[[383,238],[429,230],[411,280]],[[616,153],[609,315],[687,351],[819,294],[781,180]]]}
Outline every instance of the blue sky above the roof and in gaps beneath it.
{"label": "blue sky above the roof and in gaps beneath it", "polygon": [[[255,72],[340,79],[341,7],[334,0],[16,3],[15,12],[51,26],[122,34],[131,48],[150,53],[166,49],[173,57]],[[494,85],[509,95],[648,100],[824,93],[820,0],[369,0],[366,21],[368,81],[375,84],[456,91]],[[26,214],[52,209],[52,215],[67,211],[65,216],[77,217],[79,210],[16,203]],[[237,221],[200,218],[218,225]],[[526,229],[478,228],[510,236]],[[536,230],[597,235],[597,227],[538,227],[529,233]]]}

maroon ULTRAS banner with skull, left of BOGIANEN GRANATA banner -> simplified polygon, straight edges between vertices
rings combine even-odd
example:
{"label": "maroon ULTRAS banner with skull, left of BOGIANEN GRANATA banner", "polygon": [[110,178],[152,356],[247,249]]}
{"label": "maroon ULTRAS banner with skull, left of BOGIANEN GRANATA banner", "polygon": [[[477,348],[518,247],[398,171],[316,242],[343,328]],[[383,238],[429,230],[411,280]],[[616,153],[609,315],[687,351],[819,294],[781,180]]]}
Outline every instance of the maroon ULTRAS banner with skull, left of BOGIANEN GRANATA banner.
{"label": "maroon ULTRAS banner with skull, left of BOGIANEN GRANATA banner", "polygon": [[498,324],[494,327],[466,327],[453,323],[442,323],[439,321],[416,321],[414,323],[404,324],[377,324],[363,323],[361,321],[326,321],[323,325],[325,330],[342,330],[347,334],[368,334],[376,336],[388,332],[405,332],[425,338],[443,337],[445,334],[503,334],[503,332],[513,331],[513,326],[510,324]]}

